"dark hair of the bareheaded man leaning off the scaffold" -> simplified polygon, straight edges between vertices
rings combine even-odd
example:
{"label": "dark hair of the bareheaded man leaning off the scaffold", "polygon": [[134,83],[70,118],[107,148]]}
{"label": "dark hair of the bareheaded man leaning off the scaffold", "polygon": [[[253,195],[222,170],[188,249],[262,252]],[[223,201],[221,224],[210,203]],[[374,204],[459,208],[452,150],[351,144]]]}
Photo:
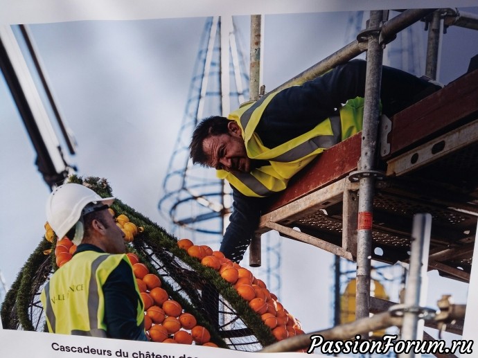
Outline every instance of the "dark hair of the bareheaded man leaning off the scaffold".
{"label": "dark hair of the bareheaded man leaning off the scaffold", "polygon": [[204,118],[194,129],[191,144],[189,145],[189,156],[193,159],[193,164],[198,163],[206,165],[208,157],[202,149],[202,142],[209,136],[218,136],[220,134],[229,133],[227,128],[229,119],[221,116],[211,116]]}

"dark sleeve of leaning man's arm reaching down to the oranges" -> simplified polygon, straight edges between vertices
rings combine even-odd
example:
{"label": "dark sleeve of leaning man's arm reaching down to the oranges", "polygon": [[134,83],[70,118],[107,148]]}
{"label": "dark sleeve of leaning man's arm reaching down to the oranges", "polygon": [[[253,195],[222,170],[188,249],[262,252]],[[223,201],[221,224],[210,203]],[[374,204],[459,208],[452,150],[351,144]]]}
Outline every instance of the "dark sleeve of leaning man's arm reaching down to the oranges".
{"label": "dark sleeve of leaning man's arm reaching down to the oranges", "polygon": [[220,251],[230,260],[240,262],[258,226],[261,206],[265,199],[247,197],[232,188],[233,211],[229,216],[229,226],[224,233]]}

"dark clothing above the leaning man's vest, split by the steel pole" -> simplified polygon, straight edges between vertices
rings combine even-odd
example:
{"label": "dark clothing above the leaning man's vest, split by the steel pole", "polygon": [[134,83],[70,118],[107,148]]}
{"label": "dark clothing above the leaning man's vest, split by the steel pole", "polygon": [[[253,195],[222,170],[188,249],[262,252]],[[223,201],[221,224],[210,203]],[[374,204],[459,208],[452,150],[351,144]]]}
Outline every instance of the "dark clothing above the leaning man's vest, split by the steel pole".
{"label": "dark clothing above the leaning man's vest, split by the steel pole", "polygon": [[[347,100],[365,96],[366,61],[352,60],[301,86],[274,96],[260,118],[256,133],[267,147],[276,147],[308,132],[329,118]],[[382,67],[382,112],[392,116],[440,89],[411,73]]]}

